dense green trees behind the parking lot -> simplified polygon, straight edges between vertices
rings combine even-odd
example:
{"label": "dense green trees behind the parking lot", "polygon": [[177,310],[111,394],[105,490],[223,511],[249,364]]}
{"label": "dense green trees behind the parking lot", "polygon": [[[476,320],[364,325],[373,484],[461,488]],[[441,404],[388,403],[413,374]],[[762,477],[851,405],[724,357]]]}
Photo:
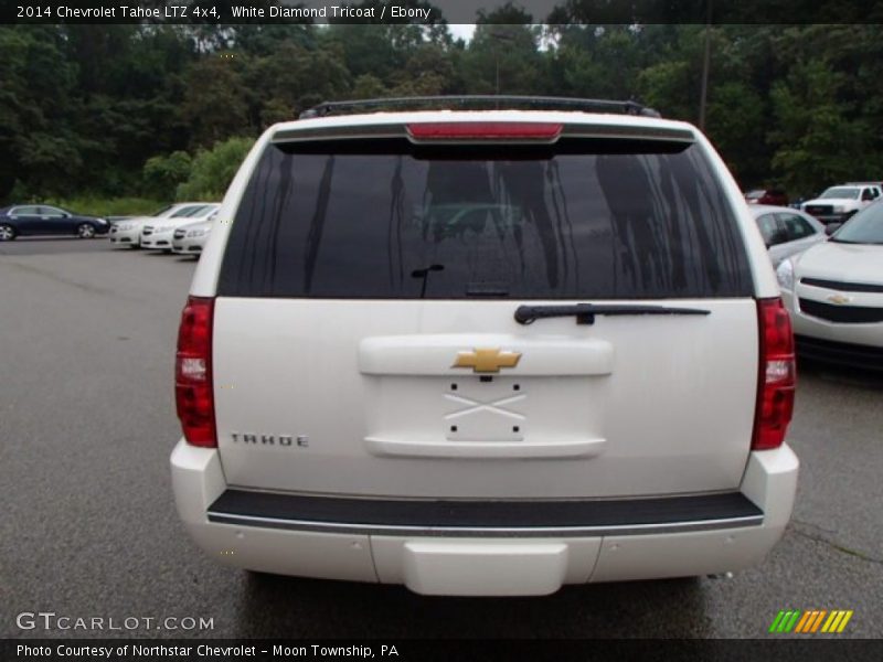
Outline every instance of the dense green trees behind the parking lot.
{"label": "dense green trees behind the parking lot", "polygon": [[[568,0],[556,15],[607,4]],[[0,26],[0,203],[83,191],[217,199],[243,145],[323,100],[638,98],[695,122],[706,39],[705,130],[743,186],[779,181],[798,195],[883,178],[880,25],[540,28],[508,2],[479,11],[466,43],[432,15],[430,25]]]}

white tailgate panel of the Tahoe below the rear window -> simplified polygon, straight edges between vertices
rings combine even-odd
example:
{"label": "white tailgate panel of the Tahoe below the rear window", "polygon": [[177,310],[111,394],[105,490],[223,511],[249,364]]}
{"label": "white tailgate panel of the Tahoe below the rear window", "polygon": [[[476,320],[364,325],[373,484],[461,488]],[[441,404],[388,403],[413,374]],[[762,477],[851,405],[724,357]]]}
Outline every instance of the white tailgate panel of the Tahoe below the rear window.
{"label": "white tailgate panel of the Tahoe below the rear window", "polygon": [[[598,317],[594,325],[562,318],[522,327],[512,319],[518,301],[219,299],[214,374],[224,471],[236,485],[405,498],[735,489],[754,418],[755,302],[668,303],[712,312]],[[458,458],[455,447],[447,453],[455,457],[438,460],[374,455],[380,441],[387,445],[384,452],[392,442],[445,444],[450,425],[445,394],[454,377],[365,376],[359,369],[362,341],[393,333],[456,333],[467,340],[470,330],[479,338],[485,329],[499,329],[521,348],[561,340],[614,349],[608,375],[521,375],[522,364],[530,365],[525,353],[519,366],[494,377],[494,383],[518,382],[528,394],[513,405],[525,417],[526,444],[605,439],[603,452],[536,461],[525,461],[514,449],[492,461]],[[481,387],[474,375],[456,380],[476,383],[468,393]],[[232,433],[304,435],[309,441],[306,448],[245,445],[234,442]],[[376,440],[373,448],[365,439]]]}

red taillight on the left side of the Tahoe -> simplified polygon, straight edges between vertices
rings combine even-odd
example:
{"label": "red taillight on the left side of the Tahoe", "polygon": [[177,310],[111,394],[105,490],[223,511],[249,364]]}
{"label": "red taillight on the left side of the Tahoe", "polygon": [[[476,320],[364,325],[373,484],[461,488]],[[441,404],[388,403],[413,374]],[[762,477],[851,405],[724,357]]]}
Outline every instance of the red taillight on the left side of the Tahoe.
{"label": "red taillight on the left side of the Tahoe", "polygon": [[174,398],[184,438],[193,446],[214,448],[212,393],[212,319],[214,299],[190,297],[181,313],[174,364]]}

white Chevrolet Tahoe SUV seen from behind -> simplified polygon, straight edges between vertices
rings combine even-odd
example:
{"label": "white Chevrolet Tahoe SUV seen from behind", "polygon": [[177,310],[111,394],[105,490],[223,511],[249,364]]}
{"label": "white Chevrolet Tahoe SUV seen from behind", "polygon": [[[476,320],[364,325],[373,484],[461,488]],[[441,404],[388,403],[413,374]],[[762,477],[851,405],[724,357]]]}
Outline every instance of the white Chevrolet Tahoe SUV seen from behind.
{"label": "white Chevrolet Tahoe SUV seen from behind", "polygon": [[257,141],[178,340],[175,503],[215,560],[542,595],[783,535],[794,344],[738,186],[688,124],[546,103]]}

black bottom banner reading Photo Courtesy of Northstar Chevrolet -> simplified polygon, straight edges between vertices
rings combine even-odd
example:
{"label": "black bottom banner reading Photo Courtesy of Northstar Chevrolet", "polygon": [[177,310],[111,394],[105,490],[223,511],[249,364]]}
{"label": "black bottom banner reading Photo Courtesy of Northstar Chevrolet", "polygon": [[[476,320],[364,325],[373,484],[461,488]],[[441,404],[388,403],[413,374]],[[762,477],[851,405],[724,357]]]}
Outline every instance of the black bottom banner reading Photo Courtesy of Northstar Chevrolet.
{"label": "black bottom banner reading Photo Courtesy of Northstar Chevrolet", "polygon": [[394,662],[531,660],[714,660],[717,662],[807,662],[883,659],[883,641],[836,639],[764,640],[2,640],[4,662],[77,661],[257,661],[389,660]]}

